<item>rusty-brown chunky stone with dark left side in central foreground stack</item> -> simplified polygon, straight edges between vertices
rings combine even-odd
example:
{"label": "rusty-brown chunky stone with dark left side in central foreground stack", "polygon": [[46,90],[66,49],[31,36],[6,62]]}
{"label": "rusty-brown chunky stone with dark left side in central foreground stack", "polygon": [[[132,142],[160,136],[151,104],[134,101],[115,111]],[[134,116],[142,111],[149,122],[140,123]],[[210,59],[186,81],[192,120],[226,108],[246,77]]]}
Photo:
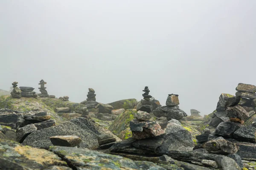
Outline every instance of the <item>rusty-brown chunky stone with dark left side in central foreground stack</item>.
{"label": "rusty-brown chunky stone with dark left side in central foreground stack", "polygon": [[145,139],[159,136],[164,133],[158,123],[151,121],[139,122],[137,120],[132,120],[130,122],[130,128],[134,139]]}

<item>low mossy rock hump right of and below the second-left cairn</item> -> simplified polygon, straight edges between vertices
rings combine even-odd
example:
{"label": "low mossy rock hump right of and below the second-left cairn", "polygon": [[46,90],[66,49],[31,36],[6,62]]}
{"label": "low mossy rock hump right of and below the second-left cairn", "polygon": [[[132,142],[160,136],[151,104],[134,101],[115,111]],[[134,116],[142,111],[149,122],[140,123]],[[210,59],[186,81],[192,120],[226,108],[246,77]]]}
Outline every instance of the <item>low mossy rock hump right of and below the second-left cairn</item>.
{"label": "low mossy rock hump right of and below the second-left cairn", "polygon": [[52,108],[52,110],[55,110],[55,108],[70,108],[70,113],[72,113],[73,111],[75,111],[76,113],[80,113],[81,108],[85,107],[85,105],[81,103],[63,101],[61,99],[54,99],[49,97],[40,97],[38,99],[48,107]]}

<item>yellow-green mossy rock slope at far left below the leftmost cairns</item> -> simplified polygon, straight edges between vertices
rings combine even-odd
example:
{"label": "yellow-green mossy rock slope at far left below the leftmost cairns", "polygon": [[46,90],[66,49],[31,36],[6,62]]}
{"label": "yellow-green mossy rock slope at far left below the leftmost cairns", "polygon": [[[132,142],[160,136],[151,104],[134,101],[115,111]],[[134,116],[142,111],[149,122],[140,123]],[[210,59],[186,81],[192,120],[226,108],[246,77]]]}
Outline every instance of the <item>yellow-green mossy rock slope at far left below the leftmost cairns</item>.
{"label": "yellow-green mossy rock slope at far left below the leftmost cairns", "polygon": [[47,106],[44,102],[32,97],[21,97],[20,99],[17,99],[13,98],[11,95],[0,96],[0,109],[2,108],[8,108],[21,112],[31,111],[32,109],[40,109],[49,113],[51,119],[55,119],[57,124],[65,121],[63,117],[58,116],[57,113],[55,113],[55,111]]}

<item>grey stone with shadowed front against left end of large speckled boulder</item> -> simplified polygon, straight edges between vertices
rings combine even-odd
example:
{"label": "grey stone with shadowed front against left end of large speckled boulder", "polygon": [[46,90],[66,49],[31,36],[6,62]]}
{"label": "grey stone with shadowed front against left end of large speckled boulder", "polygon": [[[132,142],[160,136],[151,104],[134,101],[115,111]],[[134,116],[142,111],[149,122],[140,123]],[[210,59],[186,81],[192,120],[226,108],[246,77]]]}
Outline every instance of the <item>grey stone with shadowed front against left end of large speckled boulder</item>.
{"label": "grey stone with shadowed front against left end of large speckled boulder", "polygon": [[35,125],[30,124],[26,125],[24,127],[20,127],[16,130],[16,141],[22,143],[26,137],[37,130],[37,127]]}

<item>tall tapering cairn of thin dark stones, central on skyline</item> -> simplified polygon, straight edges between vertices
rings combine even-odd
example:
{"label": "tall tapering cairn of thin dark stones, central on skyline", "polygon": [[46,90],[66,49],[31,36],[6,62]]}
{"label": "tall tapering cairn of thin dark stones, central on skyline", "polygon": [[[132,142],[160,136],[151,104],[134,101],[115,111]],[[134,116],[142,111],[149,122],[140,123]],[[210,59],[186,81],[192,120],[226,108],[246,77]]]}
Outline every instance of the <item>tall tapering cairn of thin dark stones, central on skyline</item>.
{"label": "tall tapering cairn of thin dark stones, central on skyline", "polygon": [[137,111],[145,111],[150,113],[153,110],[153,105],[152,101],[150,100],[152,96],[149,95],[150,90],[148,89],[148,86],[145,86],[143,91],[145,92],[144,94],[142,94],[144,98],[138,103]]}

